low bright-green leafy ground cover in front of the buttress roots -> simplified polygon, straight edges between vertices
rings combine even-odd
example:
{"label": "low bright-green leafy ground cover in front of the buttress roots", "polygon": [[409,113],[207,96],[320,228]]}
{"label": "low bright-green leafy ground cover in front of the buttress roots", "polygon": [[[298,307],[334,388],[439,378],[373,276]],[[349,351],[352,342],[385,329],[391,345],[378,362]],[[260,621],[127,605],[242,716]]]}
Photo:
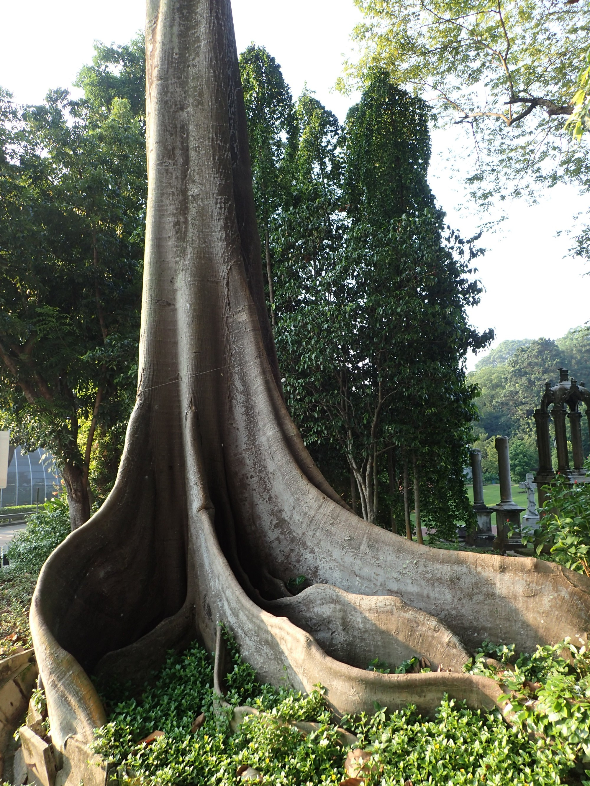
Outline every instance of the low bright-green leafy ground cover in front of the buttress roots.
{"label": "low bright-green leafy ground cover in front of the buttress roots", "polygon": [[[538,648],[518,658],[514,647],[486,643],[478,651],[467,669],[505,685],[514,711],[511,725],[497,712],[471,711],[448,699],[433,718],[411,706],[342,718],[341,725],[358,738],[355,747],[371,753],[367,786],[408,780],[414,786],[587,783],[581,760],[590,728],[588,657],[583,648],[571,648],[572,660],[564,659],[562,650],[569,646]],[[183,655],[170,655],[140,698],[126,696],[121,686],[101,686],[109,723],[98,730],[95,750],[116,762],[124,782],[141,777],[146,786],[234,784],[245,766],[272,786],[344,780],[348,749],[339,742],[322,689],[301,696],[260,685],[234,648],[232,659],[228,703],[260,711],[245,718],[234,735],[229,713],[214,714],[212,661],[193,645]],[[205,723],[191,732],[201,712]],[[305,734],[290,725],[295,721],[318,726]],[[156,730],[164,736],[142,743]]]}

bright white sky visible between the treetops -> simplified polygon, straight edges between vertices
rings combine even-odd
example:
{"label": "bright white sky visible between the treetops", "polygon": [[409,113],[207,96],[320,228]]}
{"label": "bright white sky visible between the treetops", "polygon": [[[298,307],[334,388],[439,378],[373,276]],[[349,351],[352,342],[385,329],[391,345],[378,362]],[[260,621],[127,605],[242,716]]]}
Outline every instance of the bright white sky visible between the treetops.
{"label": "bright white sky visible between the treetops", "polygon": [[[238,50],[264,45],[282,65],[293,95],[307,83],[320,101],[344,119],[350,100],[334,93],[348,35],[360,19],[352,0],[233,0]],[[95,39],[124,43],[143,27],[145,0],[0,0],[0,86],[17,101],[39,103],[52,87],[68,87],[90,62]],[[448,220],[474,232],[478,216],[455,206],[466,202],[463,184],[444,163],[448,134],[433,138],[431,183]],[[455,145],[461,145],[456,142]],[[590,319],[590,276],[566,258],[565,235],[585,204],[573,189],[550,189],[536,206],[515,202],[510,218],[481,244],[478,260],[486,292],[470,319],[478,329],[496,329],[504,339],[558,338]],[[497,342],[496,342],[497,343]],[[469,358],[473,367],[475,359]]]}

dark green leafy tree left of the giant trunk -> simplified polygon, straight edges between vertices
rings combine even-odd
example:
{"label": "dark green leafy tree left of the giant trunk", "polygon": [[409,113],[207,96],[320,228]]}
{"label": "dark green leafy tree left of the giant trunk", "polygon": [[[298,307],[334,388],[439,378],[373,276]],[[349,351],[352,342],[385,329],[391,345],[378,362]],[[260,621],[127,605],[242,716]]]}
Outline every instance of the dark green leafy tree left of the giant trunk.
{"label": "dark green leafy tree left of the giant trunk", "polygon": [[135,397],[143,61],[142,40],[98,46],[79,75],[81,101],[54,90],[22,108],[0,95],[2,426],[16,443],[53,454],[72,524],[90,512],[94,436],[108,435],[94,455],[102,498]]}

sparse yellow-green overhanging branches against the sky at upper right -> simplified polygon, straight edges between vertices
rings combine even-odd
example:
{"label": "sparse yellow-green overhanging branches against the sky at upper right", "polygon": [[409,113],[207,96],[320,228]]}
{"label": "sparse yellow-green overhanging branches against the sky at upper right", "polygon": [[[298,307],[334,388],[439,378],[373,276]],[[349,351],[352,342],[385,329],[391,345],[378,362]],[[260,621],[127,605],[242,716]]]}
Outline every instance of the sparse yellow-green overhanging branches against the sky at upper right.
{"label": "sparse yellow-green overhanging branches against the sky at upper right", "polygon": [[355,31],[361,83],[367,69],[426,97],[437,116],[464,129],[461,160],[468,182],[486,201],[559,180],[590,185],[585,144],[564,121],[590,10],[562,0],[356,0],[366,19]]}

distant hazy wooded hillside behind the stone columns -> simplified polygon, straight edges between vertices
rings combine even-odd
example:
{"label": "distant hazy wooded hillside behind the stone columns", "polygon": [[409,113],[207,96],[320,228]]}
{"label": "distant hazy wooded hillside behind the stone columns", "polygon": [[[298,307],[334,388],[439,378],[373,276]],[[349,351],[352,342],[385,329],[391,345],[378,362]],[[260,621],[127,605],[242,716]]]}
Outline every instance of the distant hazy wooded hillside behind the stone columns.
{"label": "distant hazy wooded hillside behind the stone columns", "polygon": [[[481,391],[477,399],[480,420],[474,427],[475,447],[481,449],[486,482],[497,480],[496,435],[511,440],[511,471],[515,482],[538,466],[534,411],[540,406],[545,382],[559,380],[559,367],[569,369],[578,382],[590,384],[590,327],[574,328],[556,341],[549,339],[503,341],[478,361],[467,375]],[[585,419],[584,419],[585,421]],[[584,450],[590,439],[582,428]]]}

